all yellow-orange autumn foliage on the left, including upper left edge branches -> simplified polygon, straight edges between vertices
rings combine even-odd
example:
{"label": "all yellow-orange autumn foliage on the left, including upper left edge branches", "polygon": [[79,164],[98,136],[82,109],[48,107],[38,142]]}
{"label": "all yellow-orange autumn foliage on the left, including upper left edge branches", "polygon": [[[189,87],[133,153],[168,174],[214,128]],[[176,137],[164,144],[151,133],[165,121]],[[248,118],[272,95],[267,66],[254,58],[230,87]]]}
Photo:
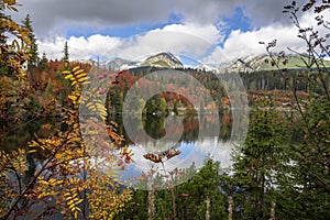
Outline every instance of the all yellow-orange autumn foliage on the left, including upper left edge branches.
{"label": "all yellow-orange autumn foliage on the left, including upper left edge branches", "polygon": [[[14,0],[3,0],[1,7],[16,11]],[[6,108],[11,103],[8,102],[8,98],[13,97],[14,103],[20,107],[20,100],[29,95],[25,90],[23,63],[30,58],[30,40],[29,30],[13,22],[10,16],[1,14],[0,28],[3,40],[0,47],[1,65],[11,69],[15,77],[22,80],[8,76],[1,78],[3,88],[0,87],[0,113],[1,117],[6,117]],[[21,40],[22,45],[19,45],[16,40],[12,44],[8,43],[7,33]],[[116,150],[119,148],[117,143],[121,140],[114,133],[113,123],[107,125],[106,132],[99,123],[96,123],[97,119],[101,119],[105,123],[107,117],[106,107],[100,98],[100,88],[88,87],[91,78],[97,76],[78,66],[65,69],[63,75],[72,88],[67,96],[69,107],[58,107],[54,110],[62,119],[61,127],[54,129],[50,138],[36,136],[23,148],[0,151],[0,197],[3,198],[0,201],[1,219],[28,217],[43,219],[54,215],[59,215],[64,219],[111,219],[130,199],[130,190],[125,188],[119,190],[120,186],[116,182],[116,167],[119,161],[122,160],[122,164],[131,162],[132,155],[128,148],[105,154],[105,152],[97,153],[90,146],[97,143],[97,146]],[[8,96],[7,88],[11,87],[15,88],[14,96],[11,94]],[[88,87],[85,92],[84,87]],[[106,88],[107,84],[103,84],[101,89]],[[94,112],[91,114],[94,117],[86,119],[89,121],[85,127],[81,123],[84,120],[79,119],[80,105],[82,109]],[[6,110],[3,114],[2,107]],[[82,133],[91,140],[82,141]],[[97,133],[98,135],[94,136]],[[105,142],[109,135],[117,141]],[[36,154],[43,158],[37,167],[31,163],[31,158],[35,158]],[[111,164],[107,174],[102,172],[105,167],[94,163],[98,155],[106,155],[107,158],[103,160],[108,160]]]}

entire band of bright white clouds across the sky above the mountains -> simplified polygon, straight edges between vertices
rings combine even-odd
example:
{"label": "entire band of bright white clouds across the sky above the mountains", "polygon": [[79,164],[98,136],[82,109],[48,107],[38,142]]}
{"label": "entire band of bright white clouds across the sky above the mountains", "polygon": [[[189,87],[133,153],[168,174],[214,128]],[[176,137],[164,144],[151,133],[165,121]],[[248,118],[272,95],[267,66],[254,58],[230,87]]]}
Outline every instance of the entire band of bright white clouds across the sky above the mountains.
{"label": "entire band of bright white clouds across the sky above the mountains", "polygon": [[[312,14],[305,13],[301,26],[317,26]],[[72,59],[87,59],[96,56],[107,58],[122,57],[141,61],[142,58],[160,53],[172,52],[184,55],[204,64],[217,65],[238,57],[265,53],[265,46],[258,42],[277,40],[276,51],[287,51],[289,46],[296,51],[306,50],[305,43],[297,37],[297,29],[293,25],[273,23],[248,32],[232,30],[223,42],[222,31],[215,24],[168,24],[163,29],[155,29],[142,35],[130,38],[119,38],[106,35],[89,37],[69,37],[69,53]],[[46,52],[51,58],[63,56],[64,37],[54,41],[38,42],[40,51]],[[222,43],[222,47],[216,46]],[[211,53],[212,52],[212,53]]]}

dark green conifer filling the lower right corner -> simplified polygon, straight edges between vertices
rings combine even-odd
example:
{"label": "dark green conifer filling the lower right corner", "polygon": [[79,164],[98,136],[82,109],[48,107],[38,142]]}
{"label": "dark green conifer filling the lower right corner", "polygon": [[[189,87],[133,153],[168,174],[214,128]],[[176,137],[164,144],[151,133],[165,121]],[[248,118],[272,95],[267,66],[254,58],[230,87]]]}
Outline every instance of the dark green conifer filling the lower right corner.
{"label": "dark green conifer filling the lower right corner", "polygon": [[327,96],[308,98],[304,118],[296,116],[295,139],[286,147],[277,185],[282,202],[276,212],[287,219],[328,219],[330,210],[330,101]]}

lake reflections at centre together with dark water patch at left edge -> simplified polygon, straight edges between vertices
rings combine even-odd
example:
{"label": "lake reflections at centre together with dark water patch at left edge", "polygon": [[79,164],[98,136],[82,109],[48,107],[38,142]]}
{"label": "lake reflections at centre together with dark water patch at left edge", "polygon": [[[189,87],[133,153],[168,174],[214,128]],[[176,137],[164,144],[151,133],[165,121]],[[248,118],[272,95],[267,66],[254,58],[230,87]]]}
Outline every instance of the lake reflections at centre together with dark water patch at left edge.
{"label": "lake reflections at centre together with dark water patch at left edge", "polygon": [[[118,132],[125,138],[127,144],[134,153],[134,163],[128,164],[121,172],[122,179],[130,179],[132,183],[132,179],[139,179],[141,175],[152,169],[167,175],[175,169],[186,169],[193,164],[200,168],[208,157],[219,161],[222,167],[228,167],[233,145],[231,142],[233,140],[232,116],[234,114],[231,112],[220,114],[220,124],[218,124],[220,128],[217,132],[215,131],[215,117],[209,114],[200,114],[199,118],[193,114],[168,116],[167,118],[144,116],[142,123],[138,123],[139,119],[131,118],[132,127],[136,131],[133,133],[134,136],[132,134],[128,136],[122,125],[122,119],[118,117],[116,119],[119,127]],[[139,127],[134,127],[134,124],[139,124]],[[34,140],[35,136],[47,138],[53,134],[54,128],[58,127],[59,122],[53,119],[18,124],[1,138],[1,150],[11,151],[26,147],[28,142]],[[142,131],[152,139],[140,135]],[[200,135],[200,131],[204,131],[202,135]],[[178,134],[179,138],[177,138]],[[166,139],[163,139],[164,136]],[[166,157],[163,155],[166,151],[179,153],[176,156]],[[146,160],[144,155],[150,153],[163,156],[162,163]]]}

